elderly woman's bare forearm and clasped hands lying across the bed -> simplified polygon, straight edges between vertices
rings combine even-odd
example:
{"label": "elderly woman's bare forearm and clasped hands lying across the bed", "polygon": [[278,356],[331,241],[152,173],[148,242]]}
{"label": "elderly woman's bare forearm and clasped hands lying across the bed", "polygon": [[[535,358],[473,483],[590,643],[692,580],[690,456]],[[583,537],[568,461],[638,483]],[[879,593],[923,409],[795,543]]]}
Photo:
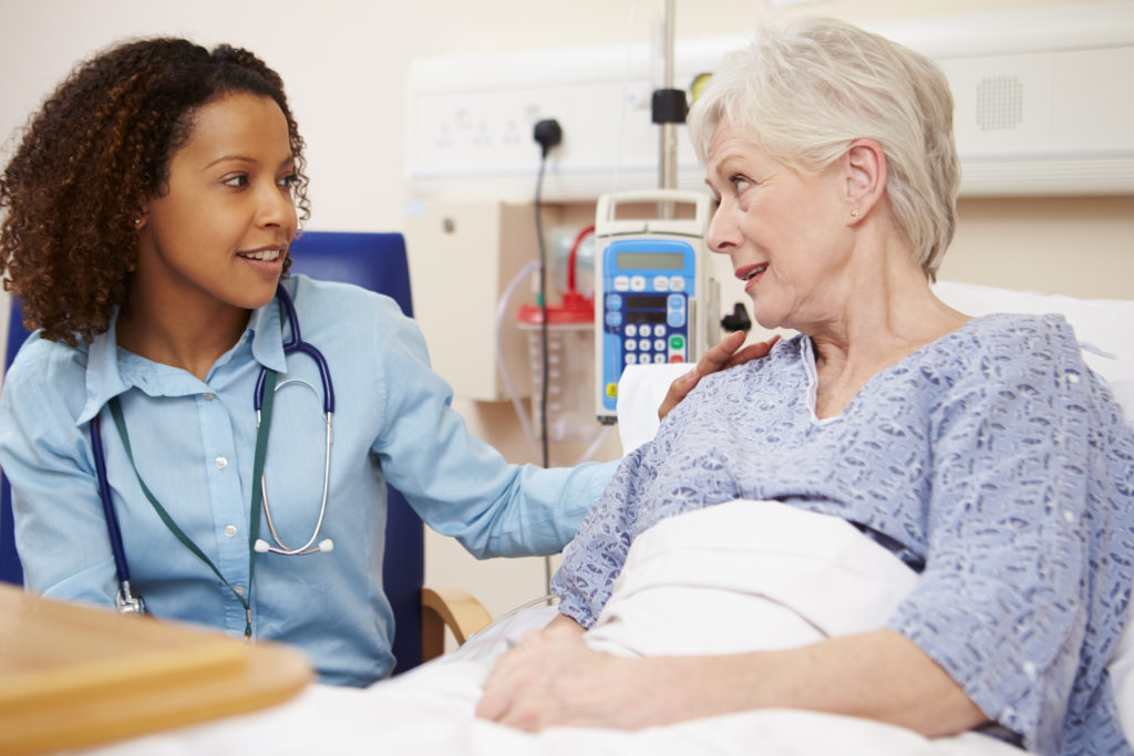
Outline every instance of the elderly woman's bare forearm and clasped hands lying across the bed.
{"label": "elderly woman's bare forearm and clasped hands lying across the bed", "polygon": [[484,682],[476,715],[522,730],[637,730],[760,708],[889,722],[937,738],[988,717],[912,640],[871,630],[772,652],[627,659],[592,651],[566,617],[528,634]]}

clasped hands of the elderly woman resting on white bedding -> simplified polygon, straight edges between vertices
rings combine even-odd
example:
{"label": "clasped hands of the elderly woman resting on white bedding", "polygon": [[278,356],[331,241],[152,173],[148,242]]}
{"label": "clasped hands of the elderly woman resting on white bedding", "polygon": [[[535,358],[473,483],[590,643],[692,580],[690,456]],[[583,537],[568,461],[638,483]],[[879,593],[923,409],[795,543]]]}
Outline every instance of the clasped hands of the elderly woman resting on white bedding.
{"label": "clasped hands of the elderly woman resting on white bedding", "polygon": [[[549,727],[643,728],[674,719],[669,687],[649,687],[645,660],[591,651],[583,628],[557,618],[501,659],[484,682],[476,715],[527,731]],[[635,663],[636,662],[636,663]]]}

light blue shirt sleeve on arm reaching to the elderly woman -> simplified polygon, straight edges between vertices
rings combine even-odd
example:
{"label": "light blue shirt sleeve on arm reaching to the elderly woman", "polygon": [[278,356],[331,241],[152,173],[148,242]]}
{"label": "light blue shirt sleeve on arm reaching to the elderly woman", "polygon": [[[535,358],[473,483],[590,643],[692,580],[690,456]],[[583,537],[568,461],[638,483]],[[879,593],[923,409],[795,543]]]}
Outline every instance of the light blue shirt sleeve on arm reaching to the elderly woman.
{"label": "light blue shirt sleeve on arm reaching to the elderly woman", "polygon": [[384,421],[373,449],[387,479],[425,523],[476,557],[560,551],[617,462],[542,469],[505,461],[468,432],[417,325],[393,307],[374,334]]}

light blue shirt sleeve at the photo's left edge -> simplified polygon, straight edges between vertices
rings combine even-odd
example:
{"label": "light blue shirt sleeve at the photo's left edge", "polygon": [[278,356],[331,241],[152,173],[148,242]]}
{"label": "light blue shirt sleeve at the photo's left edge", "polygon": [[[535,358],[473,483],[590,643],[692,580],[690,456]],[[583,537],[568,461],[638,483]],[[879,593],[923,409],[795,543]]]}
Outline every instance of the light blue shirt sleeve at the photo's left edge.
{"label": "light blue shirt sleeve at the photo's left edge", "polygon": [[75,424],[84,399],[81,356],[58,359],[48,345],[28,343],[0,397],[0,464],[24,583],[46,596],[112,606],[117,581],[87,426]]}

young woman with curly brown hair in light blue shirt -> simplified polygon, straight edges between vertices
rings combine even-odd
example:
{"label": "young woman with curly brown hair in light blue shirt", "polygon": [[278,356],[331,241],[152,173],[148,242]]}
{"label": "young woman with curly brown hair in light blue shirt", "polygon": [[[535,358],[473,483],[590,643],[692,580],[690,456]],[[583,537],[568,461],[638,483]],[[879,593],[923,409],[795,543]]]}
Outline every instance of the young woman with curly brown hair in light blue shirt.
{"label": "young woman with curly brown hair in light blue shirt", "polygon": [[[115,604],[104,465],[150,613],[295,644],[324,681],[365,685],[393,662],[387,481],[477,555],[542,554],[612,468],[505,462],[391,300],[286,275],[303,148],[282,82],[244,50],[130,42],[59,86],[0,180],[0,275],[39,329],[7,374],[0,464],[29,589]],[[299,329],[333,381],[329,474],[320,367],[285,355]]]}

